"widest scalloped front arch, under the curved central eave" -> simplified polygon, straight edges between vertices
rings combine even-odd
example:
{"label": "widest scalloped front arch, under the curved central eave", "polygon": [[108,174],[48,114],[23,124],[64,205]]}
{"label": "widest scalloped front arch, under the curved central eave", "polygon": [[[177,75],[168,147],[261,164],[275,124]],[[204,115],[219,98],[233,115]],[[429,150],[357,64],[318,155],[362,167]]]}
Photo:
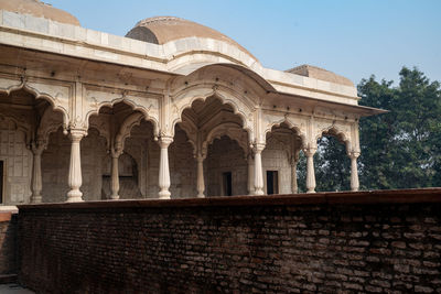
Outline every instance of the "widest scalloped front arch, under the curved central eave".
{"label": "widest scalloped front arch, under the curved central eave", "polygon": [[[228,98],[227,91],[222,89],[217,85],[206,85],[200,84],[193,87],[185,88],[181,92],[174,96],[174,111],[173,120],[171,124],[171,132],[174,135],[174,127],[176,123],[182,122],[182,113],[185,109],[190,109],[194,101],[202,100],[206,101],[208,97],[215,97],[220,100],[223,105],[228,105],[232,107],[234,115],[237,115],[243,121],[243,129],[248,132],[249,141],[254,138],[254,127],[252,127],[252,112],[254,109],[248,107],[246,104],[240,101],[240,99]],[[235,97],[240,97],[236,92]],[[238,104],[239,101],[239,104]]]}

